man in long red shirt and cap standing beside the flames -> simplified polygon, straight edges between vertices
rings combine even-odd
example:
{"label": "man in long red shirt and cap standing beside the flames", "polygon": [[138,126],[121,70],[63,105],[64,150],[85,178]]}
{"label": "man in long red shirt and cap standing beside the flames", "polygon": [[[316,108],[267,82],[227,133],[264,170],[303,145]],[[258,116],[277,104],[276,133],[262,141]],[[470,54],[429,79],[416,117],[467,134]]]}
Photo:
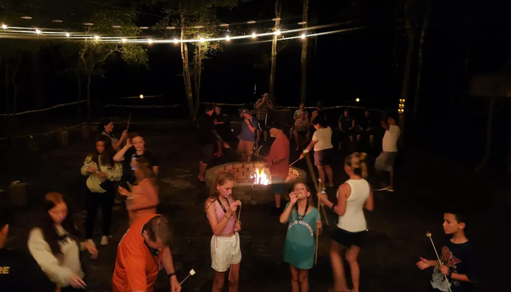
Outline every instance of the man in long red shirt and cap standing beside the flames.
{"label": "man in long red shirt and cap standing beside the flames", "polygon": [[289,140],[282,125],[273,123],[270,136],[275,138],[270,154],[264,158],[271,175],[271,191],[275,194],[275,209],[272,215],[282,214],[281,195],[287,192],[286,178],[289,172]]}

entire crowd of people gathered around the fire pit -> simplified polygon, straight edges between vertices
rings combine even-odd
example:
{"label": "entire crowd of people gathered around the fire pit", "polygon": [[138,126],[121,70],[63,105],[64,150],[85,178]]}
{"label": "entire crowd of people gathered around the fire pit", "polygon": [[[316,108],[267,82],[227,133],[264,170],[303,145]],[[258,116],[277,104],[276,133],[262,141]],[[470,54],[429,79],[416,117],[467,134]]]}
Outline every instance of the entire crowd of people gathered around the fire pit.
{"label": "entire crowd of people gathered around the fire pit", "polygon": [[[313,192],[304,182],[294,182],[289,189],[286,177],[289,169],[290,140],[284,126],[268,122],[268,112],[273,104],[264,95],[255,104],[255,115],[249,109],[240,112],[241,131],[238,153],[240,161],[251,161],[259,155],[257,145],[260,132],[264,140],[267,135],[274,138],[269,154],[262,157],[269,169],[272,183],[270,190],[275,197],[273,215],[287,224],[284,245],[284,261],[289,263],[291,290],[308,292],[308,271],[313,268],[317,256],[317,235],[323,230],[322,218],[314,205]],[[366,119],[356,122],[344,112],[339,118],[339,129],[346,139],[360,140],[367,135],[371,143],[373,132],[368,112]],[[383,151],[376,159],[375,169],[390,173],[389,184],[374,189],[366,180],[368,176],[367,155],[353,152],[343,162],[343,170],[349,177],[336,190],[335,200],[327,196],[327,188],[333,188],[332,165],[335,162],[333,131],[327,123],[321,103],[312,112],[311,119],[301,104],[294,113],[294,127],[289,137],[295,139],[297,149],[307,145],[300,158],[314,152],[314,164],[320,178],[319,193],[321,205],[338,216],[338,222],[330,233],[330,259],[334,275],[334,292],[359,292],[360,268],[358,255],[366,244],[367,223],[364,209],[373,210],[374,191],[393,189],[393,164],[397,155],[399,126],[391,116],[385,116],[381,126],[385,129]],[[264,120],[264,122],[263,122]],[[225,141],[232,135],[228,118],[221,107],[207,105],[198,119],[199,144],[201,146],[198,180],[204,182],[205,170],[213,157],[222,156],[224,148],[230,148]],[[312,125],[312,127],[311,127]],[[356,128],[358,126],[358,129]],[[103,214],[100,244],[108,245],[111,234],[112,207],[116,194],[126,197],[129,228],[121,238],[113,268],[111,289],[114,292],[152,291],[158,272],[165,270],[169,277],[171,292],[179,292],[181,286],[176,278],[170,243],[172,233],[169,220],[157,214],[159,188],[156,182],[158,160],[146,148],[141,134],[125,130],[119,139],[113,134],[113,123],[100,123],[101,135],[96,139],[96,148],[87,155],[81,167],[86,179],[85,230],[82,232],[74,221],[74,211],[69,209],[64,195],[50,192],[44,197],[44,208],[40,220],[29,234],[27,245],[31,257],[21,253],[3,250],[8,234],[10,216],[7,210],[0,210],[0,288],[3,291],[77,291],[86,289],[87,278],[83,271],[80,254],[86,252],[91,258],[98,257],[93,231],[98,209]],[[215,152],[215,147],[218,151]],[[92,149],[91,149],[92,150]],[[258,157],[255,157],[258,159]],[[259,160],[259,159],[258,159]],[[214,270],[213,292],[220,292],[227,276],[230,292],[239,290],[240,264],[242,253],[239,231],[241,201],[233,197],[235,177],[229,172],[217,174],[211,186],[210,197],[205,201],[205,213],[212,229],[211,261]],[[288,197],[285,207],[282,199]],[[466,220],[458,211],[444,215],[444,231],[451,235],[442,247],[437,260],[421,258],[417,267],[424,270],[435,267],[430,289],[432,291],[466,292],[477,279],[475,260],[468,238],[464,234]],[[344,275],[344,260],[351,274],[350,290]],[[30,271],[31,281],[21,280],[21,271]],[[227,274],[227,275],[226,275]]]}

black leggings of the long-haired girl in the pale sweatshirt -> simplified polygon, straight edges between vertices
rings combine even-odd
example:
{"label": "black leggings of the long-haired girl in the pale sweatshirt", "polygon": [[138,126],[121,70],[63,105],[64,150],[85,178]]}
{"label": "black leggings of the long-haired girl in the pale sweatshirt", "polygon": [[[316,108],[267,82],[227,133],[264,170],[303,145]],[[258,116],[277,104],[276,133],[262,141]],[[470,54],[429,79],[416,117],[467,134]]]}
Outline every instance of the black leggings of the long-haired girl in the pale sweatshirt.
{"label": "black leggings of the long-haired girl in the pale sweatshirt", "polygon": [[115,192],[113,188],[105,193],[92,193],[87,189],[87,218],[85,219],[85,238],[92,238],[92,230],[98,216],[98,208],[101,206],[103,215],[103,235],[110,235],[112,224],[112,208]]}

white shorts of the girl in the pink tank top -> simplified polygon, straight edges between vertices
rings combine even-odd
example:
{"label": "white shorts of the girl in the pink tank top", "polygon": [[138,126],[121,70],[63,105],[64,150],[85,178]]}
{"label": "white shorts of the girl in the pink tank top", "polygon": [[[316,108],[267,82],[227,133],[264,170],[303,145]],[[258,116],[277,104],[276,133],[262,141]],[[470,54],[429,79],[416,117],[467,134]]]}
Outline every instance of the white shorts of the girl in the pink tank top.
{"label": "white shorts of the girl in the pink tank top", "polygon": [[217,272],[225,272],[231,264],[241,261],[240,235],[211,237],[211,268]]}

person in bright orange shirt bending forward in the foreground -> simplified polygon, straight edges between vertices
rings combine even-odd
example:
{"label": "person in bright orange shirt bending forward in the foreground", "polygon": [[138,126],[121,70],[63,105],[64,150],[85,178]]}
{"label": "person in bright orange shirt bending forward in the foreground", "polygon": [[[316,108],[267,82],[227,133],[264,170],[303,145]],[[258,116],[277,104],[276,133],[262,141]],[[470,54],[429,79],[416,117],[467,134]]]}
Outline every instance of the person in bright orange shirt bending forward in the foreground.
{"label": "person in bright orange shirt bending forward in the foreground", "polygon": [[169,277],[170,291],[180,292],[171,241],[165,216],[146,214],[133,222],[117,248],[112,292],[152,292],[160,269],[165,269]]}

